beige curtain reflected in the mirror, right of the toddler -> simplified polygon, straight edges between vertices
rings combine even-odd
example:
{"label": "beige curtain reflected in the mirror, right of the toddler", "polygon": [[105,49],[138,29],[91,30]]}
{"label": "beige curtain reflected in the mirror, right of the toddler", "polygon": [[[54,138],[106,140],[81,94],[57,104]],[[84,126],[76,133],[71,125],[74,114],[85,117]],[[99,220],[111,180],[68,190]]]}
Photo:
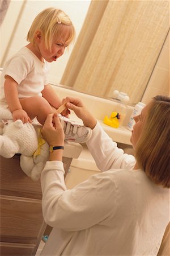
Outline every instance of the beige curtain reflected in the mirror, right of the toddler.
{"label": "beige curtain reflected in the mirror, right of the toddler", "polygon": [[141,100],[169,29],[169,1],[92,1],[61,84]]}

